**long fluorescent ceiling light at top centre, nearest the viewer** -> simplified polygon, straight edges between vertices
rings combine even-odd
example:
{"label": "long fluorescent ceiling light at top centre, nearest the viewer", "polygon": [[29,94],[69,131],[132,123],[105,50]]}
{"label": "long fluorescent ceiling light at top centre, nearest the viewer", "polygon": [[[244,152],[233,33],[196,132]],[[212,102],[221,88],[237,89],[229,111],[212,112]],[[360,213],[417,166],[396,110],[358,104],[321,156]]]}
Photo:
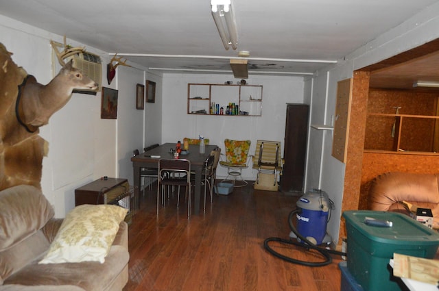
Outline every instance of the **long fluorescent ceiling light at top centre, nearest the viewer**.
{"label": "long fluorescent ceiling light at top centre, nearest the viewer", "polygon": [[217,25],[224,49],[237,49],[238,32],[231,0],[211,0],[212,16]]}

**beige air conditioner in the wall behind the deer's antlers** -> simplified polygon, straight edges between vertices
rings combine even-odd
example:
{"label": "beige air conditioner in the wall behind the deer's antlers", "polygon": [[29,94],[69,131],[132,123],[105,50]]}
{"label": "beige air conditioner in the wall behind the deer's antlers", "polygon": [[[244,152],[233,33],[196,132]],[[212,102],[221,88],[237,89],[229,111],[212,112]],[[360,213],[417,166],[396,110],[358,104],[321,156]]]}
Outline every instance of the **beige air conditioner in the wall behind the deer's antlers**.
{"label": "beige air conditioner in the wall behind the deer's antlers", "polygon": [[[66,58],[66,62],[73,59],[73,67],[78,68],[82,74],[95,81],[99,86],[97,90],[90,90],[91,92],[100,91],[102,89],[102,62],[99,55],[82,51]],[[87,91],[87,90],[81,90]]]}

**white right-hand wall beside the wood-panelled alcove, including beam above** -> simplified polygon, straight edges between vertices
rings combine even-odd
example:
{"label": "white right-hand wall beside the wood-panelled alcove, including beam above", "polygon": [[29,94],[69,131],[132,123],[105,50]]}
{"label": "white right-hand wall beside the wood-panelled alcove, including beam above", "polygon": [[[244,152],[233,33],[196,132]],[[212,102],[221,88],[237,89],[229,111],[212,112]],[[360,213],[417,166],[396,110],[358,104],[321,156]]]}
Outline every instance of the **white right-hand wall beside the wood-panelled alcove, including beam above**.
{"label": "white right-hand wall beside the wood-panelled alcove, including beam above", "polygon": [[[313,122],[331,124],[335,112],[337,81],[353,77],[353,71],[375,64],[393,55],[407,51],[439,37],[439,3],[431,5],[401,25],[371,40],[335,65],[316,73],[313,78]],[[327,79],[327,81],[325,81]],[[324,105],[326,103],[326,105]],[[323,118],[323,116],[325,116]],[[309,142],[309,188],[320,185],[334,201],[335,210],[329,221],[328,231],[337,243],[340,231],[341,205],[344,190],[345,164],[332,157],[332,132],[311,131]],[[320,173],[320,181],[316,177]]]}

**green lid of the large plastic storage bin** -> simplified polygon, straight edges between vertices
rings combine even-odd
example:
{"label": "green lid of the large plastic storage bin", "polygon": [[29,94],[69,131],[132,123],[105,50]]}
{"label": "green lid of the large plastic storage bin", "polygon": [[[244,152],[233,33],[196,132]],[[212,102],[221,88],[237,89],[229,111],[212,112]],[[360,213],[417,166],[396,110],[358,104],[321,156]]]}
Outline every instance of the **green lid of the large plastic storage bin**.
{"label": "green lid of the large plastic storage bin", "polygon": [[[409,216],[397,212],[351,210],[343,212],[346,227],[351,225],[366,238],[376,242],[392,244],[439,244],[439,233],[429,229]],[[366,217],[392,222],[392,227],[366,225]]]}

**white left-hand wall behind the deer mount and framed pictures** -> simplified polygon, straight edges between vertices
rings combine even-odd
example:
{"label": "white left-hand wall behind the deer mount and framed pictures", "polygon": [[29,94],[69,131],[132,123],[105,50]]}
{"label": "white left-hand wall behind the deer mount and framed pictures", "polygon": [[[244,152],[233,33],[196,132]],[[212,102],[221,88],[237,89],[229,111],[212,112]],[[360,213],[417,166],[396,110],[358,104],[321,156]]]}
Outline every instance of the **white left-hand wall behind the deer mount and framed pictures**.
{"label": "white left-hand wall behind the deer mount and framed pictures", "polygon": [[[12,52],[12,60],[34,75],[41,84],[47,84],[52,70],[50,40],[63,41],[63,36],[51,34],[11,18],[0,16],[0,42]],[[67,36],[68,37],[68,36]],[[154,126],[150,126],[152,107],[136,110],[136,84],[145,84],[143,68],[117,67],[112,83],[106,81],[108,53],[88,47],[67,38],[69,45],[85,46],[87,51],[101,56],[103,64],[102,84],[119,90],[117,119],[101,119],[101,92],[96,96],[73,94],[71,100],[40,127],[40,136],[49,142],[49,153],[43,158],[41,187],[47,199],[54,205],[56,217],[64,217],[75,206],[74,190],[103,176],[126,177],[132,184],[130,157],[135,147],[160,142],[161,114],[152,112]],[[58,61],[56,60],[58,73]],[[158,87],[161,78],[155,76]],[[161,90],[157,90],[154,105],[161,111]],[[156,111],[156,110],[155,110]],[[143,130],[143,123],[149,125]],[[144,141],[145,140],[145,141]]]}

